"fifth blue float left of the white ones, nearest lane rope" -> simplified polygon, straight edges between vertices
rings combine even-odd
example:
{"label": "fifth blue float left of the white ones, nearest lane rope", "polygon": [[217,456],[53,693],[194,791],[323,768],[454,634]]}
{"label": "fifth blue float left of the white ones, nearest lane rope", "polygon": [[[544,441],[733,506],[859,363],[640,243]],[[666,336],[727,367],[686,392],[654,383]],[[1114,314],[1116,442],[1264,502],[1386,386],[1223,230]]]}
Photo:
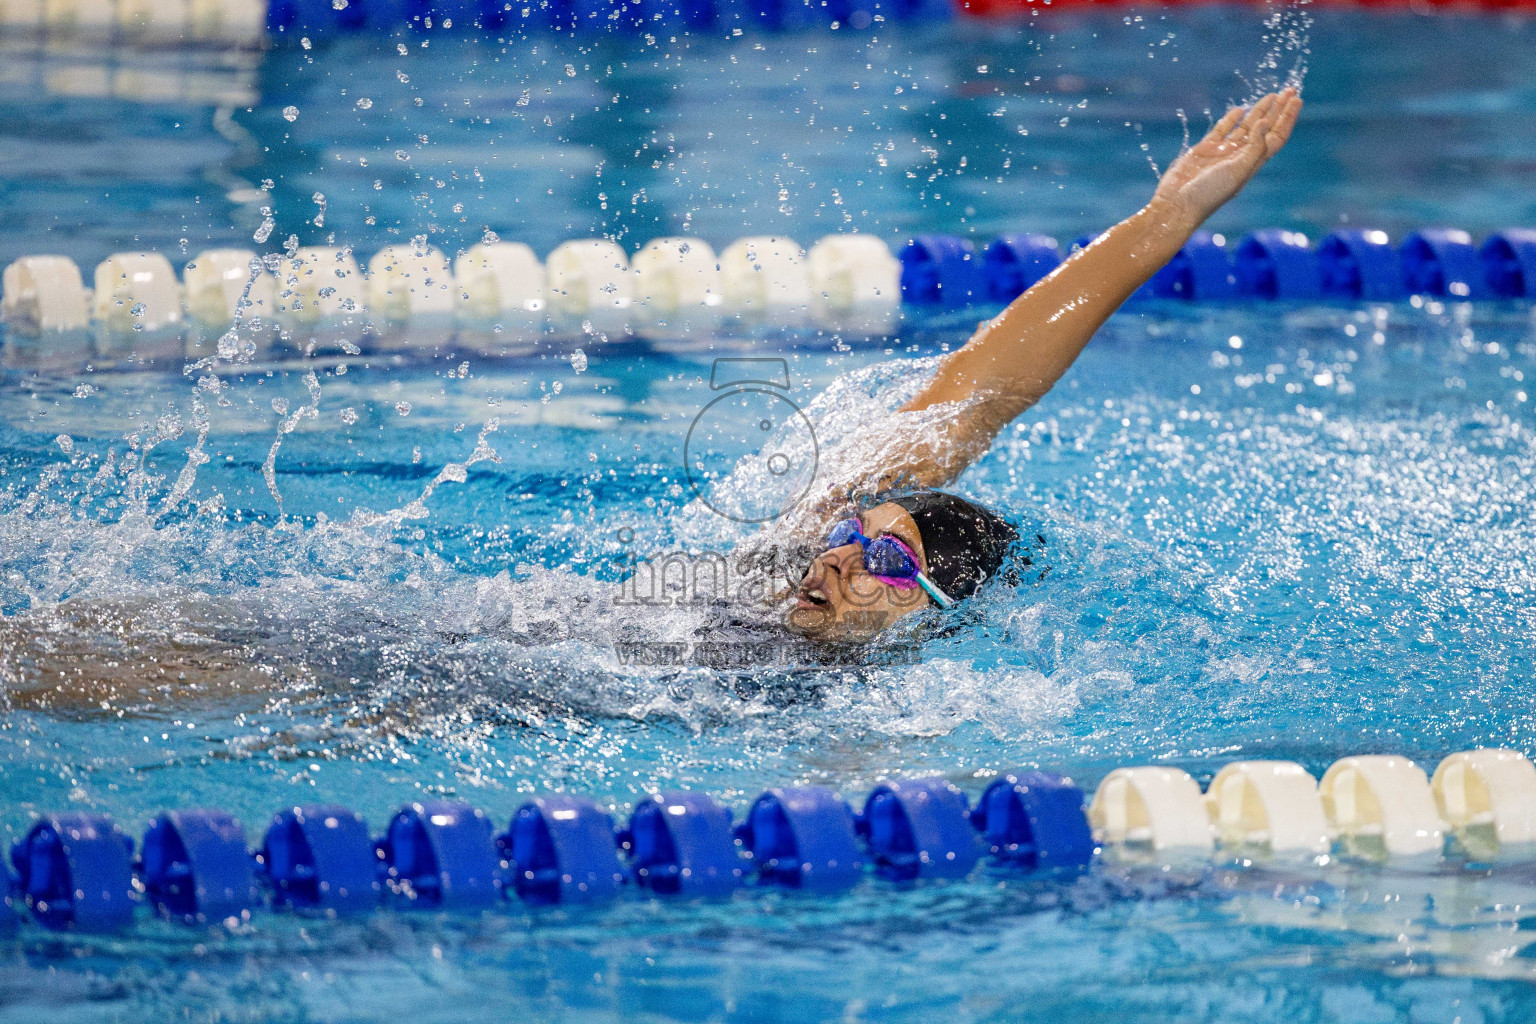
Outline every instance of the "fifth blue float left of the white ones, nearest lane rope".
{"label": "fifth blue float left of the white ones, nearest lane rope", "polygon": [[624,884],[608,812],[582,797],[539,797],[496,837],[513,889],[528,903],[605,903]]}

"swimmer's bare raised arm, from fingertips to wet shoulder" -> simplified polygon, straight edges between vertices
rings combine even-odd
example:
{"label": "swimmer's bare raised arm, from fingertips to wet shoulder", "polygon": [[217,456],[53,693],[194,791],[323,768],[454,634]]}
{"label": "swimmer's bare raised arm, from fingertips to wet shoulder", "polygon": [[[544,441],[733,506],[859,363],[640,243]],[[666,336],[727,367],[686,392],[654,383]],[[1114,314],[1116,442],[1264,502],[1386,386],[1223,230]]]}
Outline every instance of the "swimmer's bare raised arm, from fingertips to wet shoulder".
{"label": "swimmer's bare raised arm, from fingertips to wet shoulder", "polygon": [[997,433],[1061,379],[1087,341],[1130,293],[1189,241],[1279,152],[1301,112],[1293,89],[1227,111],[1174,161],[1152,201],[1020,295],[948,356],[903,408],[962,402],[945,442],[905,453],[892,476],[940,487],[991,447]]}

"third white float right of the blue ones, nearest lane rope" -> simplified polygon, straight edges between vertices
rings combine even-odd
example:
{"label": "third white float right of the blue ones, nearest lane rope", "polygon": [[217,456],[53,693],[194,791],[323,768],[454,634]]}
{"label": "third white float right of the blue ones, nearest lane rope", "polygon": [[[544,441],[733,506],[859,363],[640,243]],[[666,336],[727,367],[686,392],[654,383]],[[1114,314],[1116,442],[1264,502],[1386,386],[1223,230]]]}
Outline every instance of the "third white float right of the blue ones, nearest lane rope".
{"label": "third white float right of the blue ones, nearest lane rope", "polygon": [[1342,852],[1350,857],[1438,861],[1445,849],[1430,780],[1405,757],[1341,758],[1324,772],[1318,797]]}

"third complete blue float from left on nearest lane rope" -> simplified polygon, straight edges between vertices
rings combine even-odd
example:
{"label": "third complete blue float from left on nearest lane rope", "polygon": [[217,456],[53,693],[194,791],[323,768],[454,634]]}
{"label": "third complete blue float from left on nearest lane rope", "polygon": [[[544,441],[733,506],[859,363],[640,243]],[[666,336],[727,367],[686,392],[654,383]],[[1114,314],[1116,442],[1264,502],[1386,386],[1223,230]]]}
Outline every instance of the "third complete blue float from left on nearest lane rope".
{"label": "third complete blue float from left on nearest lane rope", "polygon": [[336,804],[278,812],[257,854],[257,870],[276,906],[332,915],[378,906],[378,863],[367,824]]}

